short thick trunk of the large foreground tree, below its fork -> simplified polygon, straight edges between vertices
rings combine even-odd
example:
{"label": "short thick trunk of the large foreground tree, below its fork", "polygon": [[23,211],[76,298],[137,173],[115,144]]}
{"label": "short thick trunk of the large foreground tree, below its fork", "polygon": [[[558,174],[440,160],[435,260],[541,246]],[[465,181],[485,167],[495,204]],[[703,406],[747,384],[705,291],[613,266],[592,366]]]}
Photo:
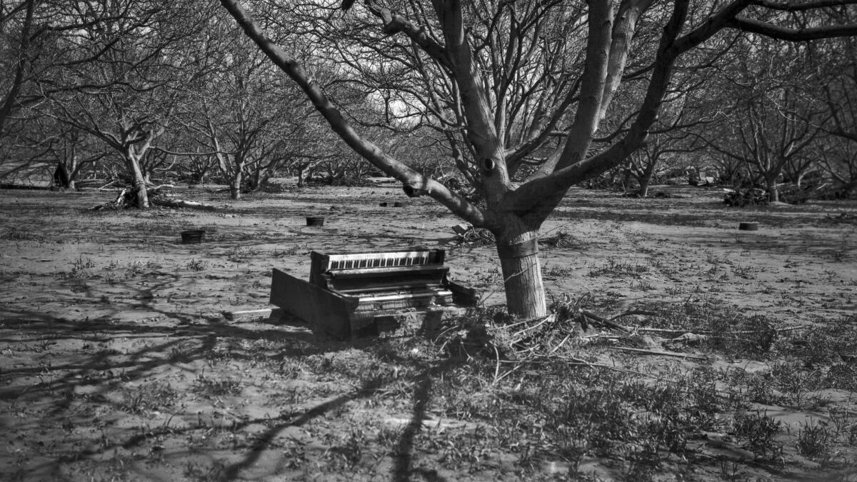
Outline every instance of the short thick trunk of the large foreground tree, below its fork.
{"label": "short thick trunk of the large foreground tree, below its fork", "polygon": [[495,237],[509,313],[526,318],[547,315],[542,266],[538,260],[538,230],[506,232]]}

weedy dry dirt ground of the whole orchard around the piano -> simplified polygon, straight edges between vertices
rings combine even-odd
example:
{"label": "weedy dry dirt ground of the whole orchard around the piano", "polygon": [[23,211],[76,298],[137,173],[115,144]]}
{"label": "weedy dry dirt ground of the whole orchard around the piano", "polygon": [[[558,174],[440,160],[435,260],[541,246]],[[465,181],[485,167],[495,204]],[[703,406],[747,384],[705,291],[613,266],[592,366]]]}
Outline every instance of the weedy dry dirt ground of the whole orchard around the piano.
{"label": "weedy dry dirt ground of the whole orchard around the piano", "polygon": [[530,340],[563,353],[536,363],[454,325],[345,343],[222,316],[268,307],[309,250],[440,245],[490,324],[494,249],[399,189],[177,190],[213,212],[2,190],[0,479],[857,480],[857,205],[659,191],[572,190],[548,220],[550,296],[653,314]]}

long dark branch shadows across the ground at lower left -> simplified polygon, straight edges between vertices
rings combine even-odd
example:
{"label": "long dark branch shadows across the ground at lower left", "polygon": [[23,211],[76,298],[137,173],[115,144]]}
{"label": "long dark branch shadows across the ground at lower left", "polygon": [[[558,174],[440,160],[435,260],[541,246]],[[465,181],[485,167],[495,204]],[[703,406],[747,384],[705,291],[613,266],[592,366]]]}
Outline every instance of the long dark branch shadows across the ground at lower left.
{"label": "long dark branch shadows across the ground at lower left", "polygon": [[[165,313],[165,315],[169,315]],[[174,320],[174,319],[173,319]],[[205,361],[218,344],[218,340],[277,340],[279,353],[274,358],[300,358],[304,356],[336,352],[361,345],[348,344],[331,340],[318,340],[307,330],[283,331],[277,325],[267,323],[249,323],[246,326],[225,322],[224,320],[208,319],[191,325],[177,327],[175,322],[168,320],[157,325],[135,322],[108,322],[105,320],[69,321],[50,319],[36,311],[19,311],[16,321],[8,321],[0,327],[0,342],[26,346],[38,346],[50,342],[51,346],[62,346],[63,343],[78,340],[93,345],[110,340],[145,340],[146,346],[123,354],[123,359],[117,361],[111,352],[96,350],[89,353],[78,353],[75,359],[67,363],[53,363],[46,372],[43,363],[31,363],[29,366],[12,368],[4,367],[0,372],[3,388],[0,389],[0,401],[11,406],[27,406],[42,404],[47,406],[41,411],[39,419],[33,419],[34,425],[61,425],[66,419],[69,407],[81,401],[73,401],[75,389],[87,387],[90,399],[111,407],[117,412],[127,412],[121,401],[117,401],[117,390],[120,395],[123,386],[141,386],[147,377],[156,372],[187,371],[187,365],[194,361]],[[189,344],[189,342],[192,342]],[[365,344],[364,344],[365,345]],[[29,357],[38,357],[42,353],[29,353]],[[251,352],[231,352],[234,359],[251,359],[258,355]],[[395,356],[390,355],[387,356]],[[32,358],[31,358],[32,359]],[[62,359],[62,358],[59,358]],[[442,376],[453,365],[462,363],[457,360],[440,364],[413,365],[413,360],[396,358],[397,363],[411,364],[417,375],[409,382],[412,390],[411,420],[401,431],[399,442],[392,451],[392,476],[396,480],[408,480],[418,476],[423,479],[442,480],[437,473],[423,467],[412,467],[416,437],[423,429],[428,402],[434,386],[434,379]],[[12,368],[8,370],[8,368]],[[263,419],[243,419],[232,425],[240,431],[249,425],[264,424],[267,429],[255,436],[254,443],[240,455],[240,460],[223,468],[227,479],[240,477],[243,471],[254,467],[262,455],[277,447],[276,438],[288,427],[299,427],[318,419],[326,413],[336,410],[351,401],[371,397],[387,387],[392,380],[369,380],[352,391],[338,395],[333,400],[324,401],[309,407],[303,413],[280,413]],[[112,392],[112,396],[111,396]],[[121,397],[119,397],[121,399]],[[273,425],[272,425],[273,424]],[[26,427],[25,427],[26,428]],[[32,428],[32,427],[31,427]],[[30,430],[30,429],[28,429]],[[125,429],[125,436],[117,435],[110,443],[93,443],[83,437],[79,442],[87,446],[84,449],[57,450],[51,460],[42,460],[39,467],[30,467],[31,475],[44,473],[45,467],[53,467],[54,475],[60,473],[63,464],[80,460],[99,460],[111,453],[111,450],[135,449],[141,443],[146,443],[157,437],[189,437],[195,431],[201,430],[195,425],[183,428],[170,426],[169,423],[147,431]],[[82,436],[81,436],[82,437]],[[391,448],[392,449],[392,448]]]}

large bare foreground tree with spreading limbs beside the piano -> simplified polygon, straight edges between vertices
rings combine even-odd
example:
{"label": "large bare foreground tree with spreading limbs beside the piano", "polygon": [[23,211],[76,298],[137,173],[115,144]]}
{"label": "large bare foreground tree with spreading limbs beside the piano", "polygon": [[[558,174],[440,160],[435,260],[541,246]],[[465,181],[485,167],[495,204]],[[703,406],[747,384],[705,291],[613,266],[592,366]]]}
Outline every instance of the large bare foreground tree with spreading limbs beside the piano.
{"label": "large bare foreground tree with spreading limbs beside the piano", "polygon": [[[237,0],[221,3],[357,154],[398,178],[412,193],[425,193],[494,233],[507,307],[521,316],[547,313],[536,243],[540,226],[573,184],[620,165],[643,144],[680,57],[718,41],[716,37],[737,33],[789,41],[857,33],[857,25],[838,24],[836,19],[799,30],[788,24],[793,16],[817,15],[834,4],[851,8],[857,0],[734,0],[694,8],[689,0],[656,4],[622,0],[615,8],[609,0],[433,0],[430,5],[348,0],[342,4],[345,13],[335,13],[337,5],[331,3],[327,9],[315,8],[319,18],[339,18],[339,23],[374,17],[371,24],[363,21],[363,29],[371,28],[377,41],[384,42],[381,54],[390,53],[366,59],[375,62],[379,75],[389,64],[397,67],[396,75],[417,72],[451,93],[437,101],[431,93],[416,90],[416,95],[399,97],[404,105],[426,112],[427,122],[445,125],[452,136],[461,136],[464,148],[455,155],[484,196],[485,206],[480,208],[361,136],[319,81],[267,37]],[[291,32],[299,36],[306,31],[295,25]],[[649,42],[654,36],[659,40]],[[636,43],[638,38],[646,41]],[[319,49],[336,53],[336,45]],[[393,56],[401,52],[411,52],[410,57],[401,57],[410,63]],[[601,121],[630,74],[626,66],[638,59],[644,59],[647,68],[640,74],[646,87],[632,109],[636,115],[615,142],[595,152],[591,146]],[[521,182],[512,182],[524,160],[545,146],[552,148],[549,155]]]}

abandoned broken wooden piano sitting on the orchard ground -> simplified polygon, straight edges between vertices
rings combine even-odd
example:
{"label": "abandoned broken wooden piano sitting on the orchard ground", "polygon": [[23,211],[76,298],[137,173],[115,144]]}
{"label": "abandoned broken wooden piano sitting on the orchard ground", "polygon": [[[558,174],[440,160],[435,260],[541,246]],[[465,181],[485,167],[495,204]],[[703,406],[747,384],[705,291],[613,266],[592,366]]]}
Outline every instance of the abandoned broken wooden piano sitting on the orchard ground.
{"label": "abandoned broken wooden piano sitting on the orchard ground", "polygon": [[403,322],[473,306],[476,291],[449,280],[445,250],[311,253],[309,282],[273,269],[271,303],[339,339],[377,335]]}

